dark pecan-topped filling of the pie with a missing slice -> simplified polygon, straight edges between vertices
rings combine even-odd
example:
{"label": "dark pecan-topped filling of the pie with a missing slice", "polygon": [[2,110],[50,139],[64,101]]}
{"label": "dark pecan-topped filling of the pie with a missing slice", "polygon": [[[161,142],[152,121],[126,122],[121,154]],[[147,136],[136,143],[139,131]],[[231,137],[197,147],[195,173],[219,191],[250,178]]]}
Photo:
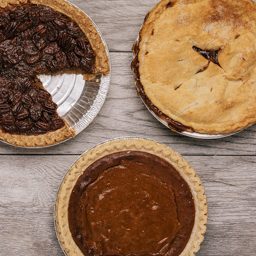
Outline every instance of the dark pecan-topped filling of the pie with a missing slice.
{"label": "dark pecan-topped filling of the pie with a missing slice", "polygon": [[30,3],[0,12],[0,128],[39,135],[65,126],[36,73],[93,73],[87,38],[67,16]]}

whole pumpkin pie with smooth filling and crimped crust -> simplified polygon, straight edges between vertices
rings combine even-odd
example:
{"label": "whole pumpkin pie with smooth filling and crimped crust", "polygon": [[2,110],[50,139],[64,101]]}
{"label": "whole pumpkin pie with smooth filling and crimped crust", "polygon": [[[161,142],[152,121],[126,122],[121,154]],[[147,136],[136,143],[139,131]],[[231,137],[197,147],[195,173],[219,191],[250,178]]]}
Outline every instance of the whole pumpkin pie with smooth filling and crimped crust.
{"label": "whole pumpkin pie with smooth filling and crimped crust", "polygon": [[59,189],[55,219],[68,256],[194,255],[207,202],[181,155],[126,138],[85,152]]}

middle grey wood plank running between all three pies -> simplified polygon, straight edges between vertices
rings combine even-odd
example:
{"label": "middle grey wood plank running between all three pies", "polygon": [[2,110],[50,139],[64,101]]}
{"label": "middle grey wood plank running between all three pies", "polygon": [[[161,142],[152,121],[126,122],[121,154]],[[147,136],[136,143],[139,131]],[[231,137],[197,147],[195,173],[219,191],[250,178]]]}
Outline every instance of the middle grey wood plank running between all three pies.
{"label": "middle grey wood plank running between all three pies", "polygon": [[121,136],[152,138],[181,154],[255,155],[256,126],[222,139],[194,139],[162,125],[142,105],[130,70],[131,53],[111,53],[112,78],[101,111],[79,135],[45,149],[21,149],[0,143],[0,154],[81,154],[91,146]]}

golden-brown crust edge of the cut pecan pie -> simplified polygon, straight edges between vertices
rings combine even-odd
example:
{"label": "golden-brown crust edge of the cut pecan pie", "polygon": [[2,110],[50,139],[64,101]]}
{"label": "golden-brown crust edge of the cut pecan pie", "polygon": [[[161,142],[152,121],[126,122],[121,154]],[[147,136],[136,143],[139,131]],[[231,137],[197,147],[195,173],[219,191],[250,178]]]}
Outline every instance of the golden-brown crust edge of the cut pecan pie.
{"label": "golden-brown crust edge of the cut pecan pie", "polygon": [[[86,73],[83,75],[84,79],[90,80],[94,78],[95,74],[97,73],[104,75],[109,73],[109,59],[107,57],[105,46],[90,18],[86,16],[81,10],[77,9],[75,6],[64,0],[2,0],[0,2],[0,9],[18,6],[25,3],[48,6],[58,13],[66,15],[80,27],[88,39],[95,55],[94,74]],[[66,138],[73,137],[74,134],[75,131],[73,128],[69,127],[66,122],[64,127],[54,131],[48,131],[47,133],[40,135],[8,134],[8,132],[3,132],[0,128],[0,138],[3,141],[15,146],[22,147],[41,147],[54,145],[56,143],[62,142]]]}

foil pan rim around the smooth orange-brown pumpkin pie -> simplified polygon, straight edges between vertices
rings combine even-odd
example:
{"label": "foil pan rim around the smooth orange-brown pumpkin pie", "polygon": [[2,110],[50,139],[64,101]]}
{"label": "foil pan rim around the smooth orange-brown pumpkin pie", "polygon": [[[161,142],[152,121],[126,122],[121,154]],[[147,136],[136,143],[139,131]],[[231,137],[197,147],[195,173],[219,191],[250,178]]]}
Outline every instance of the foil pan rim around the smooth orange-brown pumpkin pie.
{"label": "foil pan rim around the smooth orange-brown pumpkin pie", "polygon": [[[83,152],[83,153],[72,163],[72,165],[69,167],[69,169],[67,169],[66,173],[64,174],[64,176],[63,176],[63,178],[62,178],[62,180],[61,180],[61,183],[59,184],[59,187],[58,187],[58,190],[57,190],[57,193],[56,193],[56,197],[55,197],[55,203],[54,203],[54,229],[55,229],[55,233],[56,233],[56,236],[57,236],[57,240],[58,240],[58,242],[59,242],[59,245],[61,246],[61,249],[62,249],[63,253],[65,254],[65,256],[67,256],[67,254],[66,254],[65,250],[64,250],[63,247],[62,247],[61,241],[59,240],[58,231],[57,231],[57,225],[56,225],[56,220],[55,220],[55,215],[56,215],[57,197],[58,197],[59,190],[60,190],[60,188],[61,188],[61,185],[62,185],[62,183],[63,183],[63,181],[64,181],[66,175],[69,173],[70,168],[77,162],[77,160],[78,160],[79,158],[81,158],[84,154],[88,153],[89,151],[93,150],[95,147],[98,147],[98,146],[100,146],[100,145],[102,145],[102,144],[105,144],[105,143],[107,143],[107,142],[110,142],[110,141],[121,141],[121,140],[124,140],[124,139],[138,139],[138,140],[143,139],[143,140],[145,140],[145,141],[154,141],[154,142],[160,143],[160,144],[162,144],[162,145],[165,145],[165,144],[163,144],[163,143],[161,143],[161,142],[155,141],[154,139],[148,139],[148,138],[143,138],[143,137],[130,137],[130,136],[127,136],[127,137],[118,137],[118,138],[108,139],[107,141],[98,143],[97,145],[95,145],[95,146],[91,147],[90,149],[86,150],[85,152]],[[165,146],[167,146],[167,145],[165,145]],[[169,146],[167,146],[167,147],[169,147]],[[174,151],[175,151],[175,150],[174,150]],[[176,151],[175,151],[175,152],[176,152]],[[176,153],[177,153],[177,152],[176,152]]]}

